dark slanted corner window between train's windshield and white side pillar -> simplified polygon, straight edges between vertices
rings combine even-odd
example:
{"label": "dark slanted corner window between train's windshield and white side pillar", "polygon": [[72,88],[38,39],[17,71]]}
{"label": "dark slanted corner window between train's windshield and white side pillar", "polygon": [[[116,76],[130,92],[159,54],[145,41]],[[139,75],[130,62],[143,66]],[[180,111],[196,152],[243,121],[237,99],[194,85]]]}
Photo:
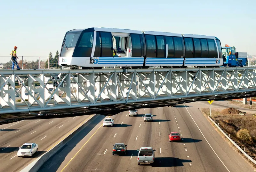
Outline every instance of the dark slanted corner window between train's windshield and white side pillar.
{"label": "dark slanted corner window between train's windshield and white side pillar", "polygon": [[78,39],[78,45],[73,53],[73,57],[91,57],[93,32],[83,32]]}

